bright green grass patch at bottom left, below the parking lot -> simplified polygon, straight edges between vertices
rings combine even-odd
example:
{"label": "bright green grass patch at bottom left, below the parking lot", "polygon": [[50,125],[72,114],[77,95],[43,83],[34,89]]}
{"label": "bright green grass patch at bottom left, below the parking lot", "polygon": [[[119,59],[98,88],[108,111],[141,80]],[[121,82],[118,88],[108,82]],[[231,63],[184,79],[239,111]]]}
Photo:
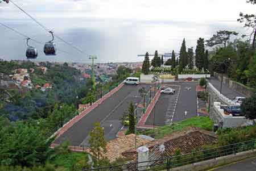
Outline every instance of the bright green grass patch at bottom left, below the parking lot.
{"label": "bright green grass patch at bottom left, below the parking lot", "polygon": [[67,154],[59,154],[51,160],[51,164],[55,165],[57,170],[69,171],[72,166],[78,162],[87,160],[87,154],[81,152],[69,152]]}

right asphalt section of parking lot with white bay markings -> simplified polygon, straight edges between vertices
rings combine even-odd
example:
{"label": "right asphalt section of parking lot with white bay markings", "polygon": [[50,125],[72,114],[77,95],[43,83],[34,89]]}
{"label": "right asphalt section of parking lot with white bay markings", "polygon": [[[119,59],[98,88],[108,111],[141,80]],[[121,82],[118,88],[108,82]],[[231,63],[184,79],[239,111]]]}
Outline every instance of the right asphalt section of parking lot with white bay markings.
{"label": "right asphalt section of parking lot with white bay markings", "polygon": [[198,116],[197,114],[197,82],[174,82],[166,84],[176,90],[174,95],[162,94],[154,109],[146,120],[146,124],[164,126],[184,119]]}

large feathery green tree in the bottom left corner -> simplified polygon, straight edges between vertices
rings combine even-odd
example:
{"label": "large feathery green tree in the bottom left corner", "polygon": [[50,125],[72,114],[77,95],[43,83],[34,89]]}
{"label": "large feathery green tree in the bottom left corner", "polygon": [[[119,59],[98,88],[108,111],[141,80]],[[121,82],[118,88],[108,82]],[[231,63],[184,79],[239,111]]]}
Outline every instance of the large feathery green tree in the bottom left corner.
{"label": "large feathery green tree in the bottom left corner", "polygon": [[52,151],[52,139],[42,134],[34,124],[16,122],[1,128],[0,164],[28,166],[44,164]]}

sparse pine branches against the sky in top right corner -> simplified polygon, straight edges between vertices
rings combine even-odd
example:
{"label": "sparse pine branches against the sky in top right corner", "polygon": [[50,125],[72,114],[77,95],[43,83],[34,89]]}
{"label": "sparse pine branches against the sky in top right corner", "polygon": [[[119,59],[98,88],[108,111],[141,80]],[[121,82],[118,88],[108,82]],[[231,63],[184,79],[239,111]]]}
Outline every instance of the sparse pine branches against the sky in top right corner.
{"label": "sparse pine branches against the sky in top right corner", "polygon": [[[248,0],[247,3],[256,4],[255,0]],[[243,12],[240,12],[240,18],[237,19],[240,23],[245,23],[243,27],[252,28],[251,35],[253,35],[253,43],[252,47],[256,48],[256,15],[255,14],[243,14]],[[243,35],[246,36],[246,35]]]}

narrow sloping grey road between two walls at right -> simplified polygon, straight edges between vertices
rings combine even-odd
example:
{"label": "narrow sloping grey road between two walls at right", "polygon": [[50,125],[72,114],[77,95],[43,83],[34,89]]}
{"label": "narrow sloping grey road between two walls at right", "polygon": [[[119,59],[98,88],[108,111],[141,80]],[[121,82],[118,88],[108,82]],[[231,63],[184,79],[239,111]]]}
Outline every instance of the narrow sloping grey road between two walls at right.
{"label": "narrow sloping grey road between two walls at right", "polygon": [[[218,90],[220,91],[221,88],[221,82],[217,80],[217,78],[210,78],[210,83]],[[241,93],[238,93],[237,91],[234,91],[230,89],[226,84],[222,83],[222,94],[228,97],[229,99],[234,99],[236,97],[243,97]]]}

